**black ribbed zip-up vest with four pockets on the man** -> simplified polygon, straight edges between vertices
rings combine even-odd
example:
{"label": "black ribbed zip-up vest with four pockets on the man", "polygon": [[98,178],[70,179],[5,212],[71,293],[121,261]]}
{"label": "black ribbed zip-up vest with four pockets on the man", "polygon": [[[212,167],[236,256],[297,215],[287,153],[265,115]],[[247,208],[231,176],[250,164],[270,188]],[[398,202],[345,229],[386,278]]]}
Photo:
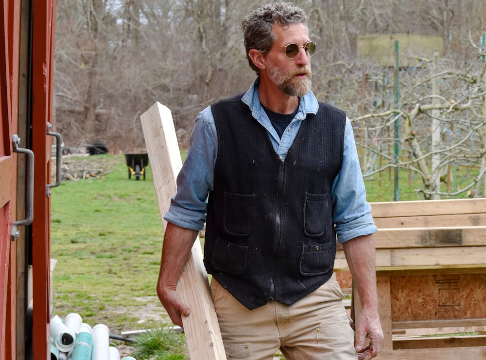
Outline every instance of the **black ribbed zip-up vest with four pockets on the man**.
{"label": "black ribbed zip-up vest with four pockets on the man", "polygon": [[211,105],[218,135],[204,263],[246,308],[291,305],[332,275],[331,183],[343,161],[346,115],[319,103],[285,162],[242,95]]}

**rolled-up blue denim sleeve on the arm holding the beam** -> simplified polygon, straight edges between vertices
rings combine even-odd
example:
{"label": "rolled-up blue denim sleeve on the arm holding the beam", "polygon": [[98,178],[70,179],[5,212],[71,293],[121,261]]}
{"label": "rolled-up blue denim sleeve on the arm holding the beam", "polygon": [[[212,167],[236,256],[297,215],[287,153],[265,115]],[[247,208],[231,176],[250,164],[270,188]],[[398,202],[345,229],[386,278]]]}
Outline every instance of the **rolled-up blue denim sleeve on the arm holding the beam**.
{"label": "rolled-up blue denim sleeve on the arm holding the beam", "polygon": [[216,151],[214,119],[208,107],[196,117],[186,160],[177,175],[177,193],[165,220],[181,228],[203,229],[206,201],[214,183]]}

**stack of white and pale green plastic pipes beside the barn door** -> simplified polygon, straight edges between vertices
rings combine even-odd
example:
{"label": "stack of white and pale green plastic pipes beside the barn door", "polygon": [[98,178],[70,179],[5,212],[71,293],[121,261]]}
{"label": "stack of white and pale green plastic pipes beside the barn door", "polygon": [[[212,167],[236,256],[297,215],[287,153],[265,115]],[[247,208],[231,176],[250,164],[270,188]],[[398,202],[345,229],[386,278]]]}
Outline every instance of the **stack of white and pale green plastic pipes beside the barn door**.
{"label": "stack of white and pale green plastic pipes beside the barn door", "polygon": [[120,359],[120,351],[110,346],[109,338],[106,325],[91,328],[74,312],[64,322],[55,315],[51,318],[51,360],[135,360],[131,356]]}

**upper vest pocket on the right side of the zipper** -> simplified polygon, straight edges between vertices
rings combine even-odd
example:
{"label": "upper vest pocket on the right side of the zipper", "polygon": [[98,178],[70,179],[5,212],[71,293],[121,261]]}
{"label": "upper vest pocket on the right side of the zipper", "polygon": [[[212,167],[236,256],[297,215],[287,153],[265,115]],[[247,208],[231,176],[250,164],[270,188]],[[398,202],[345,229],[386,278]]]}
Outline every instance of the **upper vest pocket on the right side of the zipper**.
{"label": "upper vest pocket on the right side of the zipper", "polygon": [[310,237],[319,237],[326,233],[326,223],[330,216],[328,194],[305,193],[304,233]]}

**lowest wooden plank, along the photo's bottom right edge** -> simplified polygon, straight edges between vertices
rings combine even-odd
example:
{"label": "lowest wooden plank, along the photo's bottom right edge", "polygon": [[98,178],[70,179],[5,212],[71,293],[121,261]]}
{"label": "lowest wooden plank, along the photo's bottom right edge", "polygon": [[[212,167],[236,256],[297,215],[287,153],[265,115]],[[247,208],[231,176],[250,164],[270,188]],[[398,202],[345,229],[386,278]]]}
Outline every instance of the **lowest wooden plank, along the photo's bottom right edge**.
{"label": "lowest wooden plank, along the photo's bottom right edge", "polygon": [[486,346],[449,347],[435,349],[382,350],[377,360],[446,360],[467,359],[485,360]]}

